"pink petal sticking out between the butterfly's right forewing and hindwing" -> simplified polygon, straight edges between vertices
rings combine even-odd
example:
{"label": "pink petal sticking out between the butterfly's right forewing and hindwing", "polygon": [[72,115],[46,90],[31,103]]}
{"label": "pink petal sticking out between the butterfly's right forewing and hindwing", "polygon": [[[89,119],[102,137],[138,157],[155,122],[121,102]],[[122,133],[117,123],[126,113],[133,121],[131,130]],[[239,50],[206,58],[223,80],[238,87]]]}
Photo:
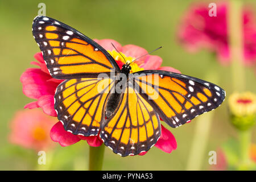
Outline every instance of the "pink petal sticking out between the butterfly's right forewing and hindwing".
{"label": "pink petal sticking out between the butterfly's right forewing and hindwing", "polygon": [[156,142],[155,147],[159,148],[160,150],[171,153],[172,150],[176,150],[177,148],[177,142],[174,138],[174,135],[167,130],[163,125],[161,125],[162,132],[161,136],[158,139],[158,142]]}

